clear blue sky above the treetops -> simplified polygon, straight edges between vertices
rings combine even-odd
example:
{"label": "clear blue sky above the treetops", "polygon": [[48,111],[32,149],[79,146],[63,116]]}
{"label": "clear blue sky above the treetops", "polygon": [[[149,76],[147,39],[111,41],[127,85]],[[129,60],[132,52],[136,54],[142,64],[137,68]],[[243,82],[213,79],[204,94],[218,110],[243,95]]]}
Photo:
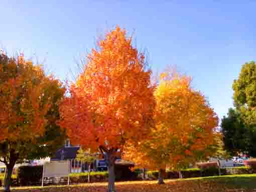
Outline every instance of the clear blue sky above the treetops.
{"label": "clear blue sky above the treetops", "polygon": [[97,34],[118,24],[135,32],[154,71],[176,65],[222,117],[232,106],[232,81],[241,65],[256,60],[255,8],[252,0],[2,0],[0,46],[46,58],[48,69],[63,80]]}

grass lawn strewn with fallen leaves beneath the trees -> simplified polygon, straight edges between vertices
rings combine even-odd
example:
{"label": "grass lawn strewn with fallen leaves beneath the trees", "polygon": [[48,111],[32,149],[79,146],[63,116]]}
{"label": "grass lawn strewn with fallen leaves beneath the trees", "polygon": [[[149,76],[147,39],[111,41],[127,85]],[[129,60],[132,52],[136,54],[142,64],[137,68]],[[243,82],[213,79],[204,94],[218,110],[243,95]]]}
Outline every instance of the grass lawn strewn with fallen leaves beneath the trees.
{"label": "grass lawn strewn with fallen leaves beneath the trees", "polygon": [[[158,191],[256,191],[256,174],[237,174],[187,179],[169,179],[166,184],[158,185],[156,181],[125,181],[116,182],[118,192],[158,192]],[[16,187],[12,191],[21,192],[75,192],[75,191],[106,191],[107,183],[90,183],[79,185],[59,185],[45,187]]]}

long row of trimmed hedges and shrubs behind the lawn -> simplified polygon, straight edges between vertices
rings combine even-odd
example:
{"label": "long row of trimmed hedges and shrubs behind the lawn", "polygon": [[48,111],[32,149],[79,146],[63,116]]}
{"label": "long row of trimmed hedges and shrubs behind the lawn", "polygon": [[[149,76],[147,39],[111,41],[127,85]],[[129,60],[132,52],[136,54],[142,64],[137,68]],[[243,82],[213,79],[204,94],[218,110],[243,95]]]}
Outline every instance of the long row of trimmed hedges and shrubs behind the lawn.
{"label": "long row of trimmed hedges and shrubs behind the lawn", "polygon": [[[256,173],[256,169],[249,168],[249,167],[230,167],[230,168],[221,168],[220,169],[222,175],[226,174],[249,174],[249,173]],[[43,166],[21,166],[16,175],[13,175],[13,186],[17,185],[40,185],[42,182],[42,173],[43,173]],[[116,180],[139,180],[141,179],[138,176],[140,171],[131,171],[129,168],[117,168],[116,171]],[[217,168],[191,168],[191,169],[183,169],[181,170],[183,178],[189,177],[201,177],[201,176],[212,176],[218,175]],[[91,182],[103,182],[107,181],[108,179],[108,172],[91,172],[90,173]],[[149,179],[157,179],[158,178],[158,171],[147,171],[146,175],[148,175]],[[84,183],[87,182],[88,173],[71,173],[70,174],[70,183]],[[167,171],[165,173],[165,178],[179,178],[179,173],[177,171]],[[3,183],[4,174],[0,174],[0,186]],[[66,178],[54,179],[54,178],[45,178],[45,184],[51,184],[53,182],[57,183],[67,183]]]}

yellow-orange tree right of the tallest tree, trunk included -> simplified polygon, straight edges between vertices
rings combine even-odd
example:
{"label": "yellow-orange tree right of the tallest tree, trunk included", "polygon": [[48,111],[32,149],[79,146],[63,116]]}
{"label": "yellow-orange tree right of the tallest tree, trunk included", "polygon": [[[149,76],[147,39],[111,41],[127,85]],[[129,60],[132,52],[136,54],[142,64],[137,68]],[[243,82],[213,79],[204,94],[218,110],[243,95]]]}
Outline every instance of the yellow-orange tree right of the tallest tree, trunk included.
{"label": "yellow-orange tree right of the tallest tree, trunk included", "polygon": [[125,158],[141,167],[159,169],[159,184],[164,183],[166,167],[179,170],[214,153],[218,118],[190,84],[187,76],[162,74],[154,92],[155,126],[149,139],[126,144]]}

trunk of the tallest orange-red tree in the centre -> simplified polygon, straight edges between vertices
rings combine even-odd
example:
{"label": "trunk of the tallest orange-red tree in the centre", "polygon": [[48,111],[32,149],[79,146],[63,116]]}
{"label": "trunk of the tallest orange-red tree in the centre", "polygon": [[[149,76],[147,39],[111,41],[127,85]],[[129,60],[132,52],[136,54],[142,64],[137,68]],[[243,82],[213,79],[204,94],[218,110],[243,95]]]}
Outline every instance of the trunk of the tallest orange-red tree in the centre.
{"label": "trunk of the tallest orange-red tree in the centre", "polygon": [[116,157],[113,156],[112,152],[107,153],[108,162],[108,192],[115,192],[115,173],[114,173],[114,162]]}

